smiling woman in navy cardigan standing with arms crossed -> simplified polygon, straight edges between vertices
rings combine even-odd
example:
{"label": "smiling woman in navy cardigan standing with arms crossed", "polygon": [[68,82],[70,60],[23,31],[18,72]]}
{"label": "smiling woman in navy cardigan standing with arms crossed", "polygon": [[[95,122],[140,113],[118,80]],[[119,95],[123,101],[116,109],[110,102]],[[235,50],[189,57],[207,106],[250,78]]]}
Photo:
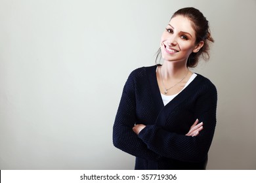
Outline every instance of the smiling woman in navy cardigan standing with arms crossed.
{"label": "smiling woman in navy cardigan standing with arms crossed", "polygon": [[158,54],[163,64],[129,75],[113,142],[136,156],[135,169],[205,169],[216,125],[217,90],[188,68],[197,65],[199,56],[209,57],[209,42],[213,39],[202,12],[182,8],[161,36]]}

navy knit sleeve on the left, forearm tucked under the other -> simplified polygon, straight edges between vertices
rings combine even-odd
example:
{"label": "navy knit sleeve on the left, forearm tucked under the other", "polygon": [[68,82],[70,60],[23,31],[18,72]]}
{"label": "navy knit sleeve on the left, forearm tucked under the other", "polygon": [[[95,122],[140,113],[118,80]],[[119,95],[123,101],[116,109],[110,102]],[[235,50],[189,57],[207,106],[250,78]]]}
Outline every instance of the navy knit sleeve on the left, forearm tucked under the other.
{"label": "navy knit sleeve on the left, forearm tucked under the other", "polygon": [[160,158],[159,155],[149,150],[146,144],[133,132],[133,127],[137,122],[133,73],[131,73],[123,88],[113,127],[113,143],[116,148],[133,156],[157,160]]}

